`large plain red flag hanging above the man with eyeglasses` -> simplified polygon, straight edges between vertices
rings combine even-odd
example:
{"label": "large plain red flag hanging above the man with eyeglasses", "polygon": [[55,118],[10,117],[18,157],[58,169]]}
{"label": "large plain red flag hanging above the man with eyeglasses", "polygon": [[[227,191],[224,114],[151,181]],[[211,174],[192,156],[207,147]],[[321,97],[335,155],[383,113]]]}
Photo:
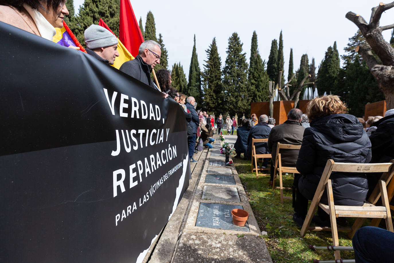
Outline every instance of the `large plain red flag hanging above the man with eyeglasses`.
{"label": "large plain red flag hanging above the man with eyeglasses", "polygon": [[119,40],[135,57],[138,55],[139,45],[144,41],[139,24],[131,7],[130,0],[121,0],[119,19]]}

